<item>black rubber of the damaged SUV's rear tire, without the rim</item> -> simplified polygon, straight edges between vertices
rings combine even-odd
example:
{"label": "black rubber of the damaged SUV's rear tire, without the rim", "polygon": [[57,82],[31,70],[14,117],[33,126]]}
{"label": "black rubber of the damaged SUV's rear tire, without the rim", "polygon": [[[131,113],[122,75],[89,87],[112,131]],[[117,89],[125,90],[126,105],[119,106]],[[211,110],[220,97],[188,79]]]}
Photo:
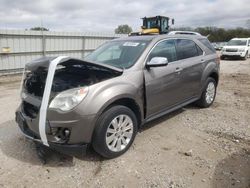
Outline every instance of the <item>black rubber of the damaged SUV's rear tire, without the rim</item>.
{"label": "black rubber of the damaged SUV's rear tire, without the rim", "polygon": [[[208,85],[210,83],[214,84],[215,90],[214,90],[214,97],[213,97],[212,101],[208,102],[207,99],[206,99],[206,93],[207,93]],[[201,108],[208,108],[209,106],[211,106],[213,104],[213,102],[214,102],[215,97],[216,97],[216,89],[217,89],[216,81],[213,78],[208,77],[207,80],[206,80],[206,84],[205,84],[205,87],[203,89],[201,98],[196,102],[196,104]]]}

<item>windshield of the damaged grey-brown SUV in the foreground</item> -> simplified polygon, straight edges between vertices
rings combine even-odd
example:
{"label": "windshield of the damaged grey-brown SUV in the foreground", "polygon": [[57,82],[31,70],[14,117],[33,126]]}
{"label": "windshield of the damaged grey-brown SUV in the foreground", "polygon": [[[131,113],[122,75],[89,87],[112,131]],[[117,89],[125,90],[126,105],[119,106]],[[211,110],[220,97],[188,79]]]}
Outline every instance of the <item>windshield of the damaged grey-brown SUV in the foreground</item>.
{"label": "windshield of the damaged grey-brown SUV in the foreground", "polygon": [[112,41],[97,48],[84,59],[126,69],[135,64],[147,44],[148,41]]}

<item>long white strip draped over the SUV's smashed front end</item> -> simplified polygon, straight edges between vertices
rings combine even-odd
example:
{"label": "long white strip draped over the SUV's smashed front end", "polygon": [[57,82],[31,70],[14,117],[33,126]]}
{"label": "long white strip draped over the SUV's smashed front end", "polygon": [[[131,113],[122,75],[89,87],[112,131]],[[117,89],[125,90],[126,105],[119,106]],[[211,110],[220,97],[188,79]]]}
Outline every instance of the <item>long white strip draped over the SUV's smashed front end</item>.
{"label": "long white strip draped over the SUV's smashed front end", "polygon": [[53,61],[51,61],[49,65],[49,70],[46,78],[46,84],[43,92],[43,99],[39,113],[39,134],[42,140],[42,143],[46,146],[49,146],[47,136],[46,136],[46,116],[47,116],[47,108],[49,104],[49,97],[52,88],[52,83],[56,71],[56,66],[67,56],[59,56]]}

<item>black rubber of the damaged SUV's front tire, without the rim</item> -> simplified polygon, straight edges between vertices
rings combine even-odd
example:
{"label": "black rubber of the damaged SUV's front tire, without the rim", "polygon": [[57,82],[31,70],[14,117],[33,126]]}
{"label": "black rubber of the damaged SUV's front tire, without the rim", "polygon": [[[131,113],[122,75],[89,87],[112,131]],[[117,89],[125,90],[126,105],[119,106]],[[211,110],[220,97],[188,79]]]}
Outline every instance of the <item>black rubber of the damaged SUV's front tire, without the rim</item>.
{"label": "black rubber of the damaged SUV's front tire, without the rim", "polygon": [[[111,121],[119,115],[127,115],[128,117],[131,118],[133,122],[133,133],[129,143],[126,145],[124,149],[122,149],[121,151],[112,151],[108,148],[108,145],[106,144],[106,134]],[[108,159],[112,159],[122,155],[132,145],[137,133],[137,127],[138,127],[137,118],[132,110],[121,105],[109,108],[104,113],[102,113],[102,115],[97,121],[92,140],[92,145],[94,150],[101,156]]]}

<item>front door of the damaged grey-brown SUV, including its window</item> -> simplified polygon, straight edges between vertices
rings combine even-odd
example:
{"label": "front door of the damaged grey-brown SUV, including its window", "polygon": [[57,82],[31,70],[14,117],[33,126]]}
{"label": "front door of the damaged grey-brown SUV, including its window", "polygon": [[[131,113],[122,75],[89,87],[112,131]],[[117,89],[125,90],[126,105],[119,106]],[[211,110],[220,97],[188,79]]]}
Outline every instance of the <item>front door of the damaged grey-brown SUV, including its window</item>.
{"label": "front door of the damaged grey-brown SUV, including its window", "polygon": [[168,65],[145,68],[145,89],[147,101],[147,117],[164,111],[176,104],[181,96],[181,80],[178,69],[175,39],[159,42],[150,52],[147,62],[153,57],[166,57]]}

